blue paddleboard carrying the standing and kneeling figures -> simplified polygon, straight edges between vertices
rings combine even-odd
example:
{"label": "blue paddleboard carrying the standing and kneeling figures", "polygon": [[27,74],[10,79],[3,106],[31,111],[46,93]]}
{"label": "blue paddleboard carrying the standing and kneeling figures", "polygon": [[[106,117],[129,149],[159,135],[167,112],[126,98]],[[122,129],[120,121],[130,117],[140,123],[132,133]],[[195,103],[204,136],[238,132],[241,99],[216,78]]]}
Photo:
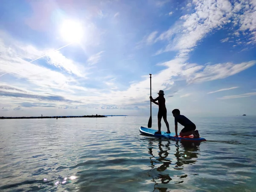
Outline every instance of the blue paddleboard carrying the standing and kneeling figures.
{"label": "blue paddleboard carrying the standing and kneeling figures", "polygon": [[194,138],[193,135],[185,136],[185,137],[175,137],[175,133],[170,133],[167,134],[166,131],[161,131],[161,134],[155,134],[157,130],[150,129],[150,128],[145,128],[145,127],[140,127],[140,133],[148,136],[153,136],[153,137],[165,137],[169,138],[171,140],[176,140],[176,141],[206,141],[203,137],[199,138]]}

